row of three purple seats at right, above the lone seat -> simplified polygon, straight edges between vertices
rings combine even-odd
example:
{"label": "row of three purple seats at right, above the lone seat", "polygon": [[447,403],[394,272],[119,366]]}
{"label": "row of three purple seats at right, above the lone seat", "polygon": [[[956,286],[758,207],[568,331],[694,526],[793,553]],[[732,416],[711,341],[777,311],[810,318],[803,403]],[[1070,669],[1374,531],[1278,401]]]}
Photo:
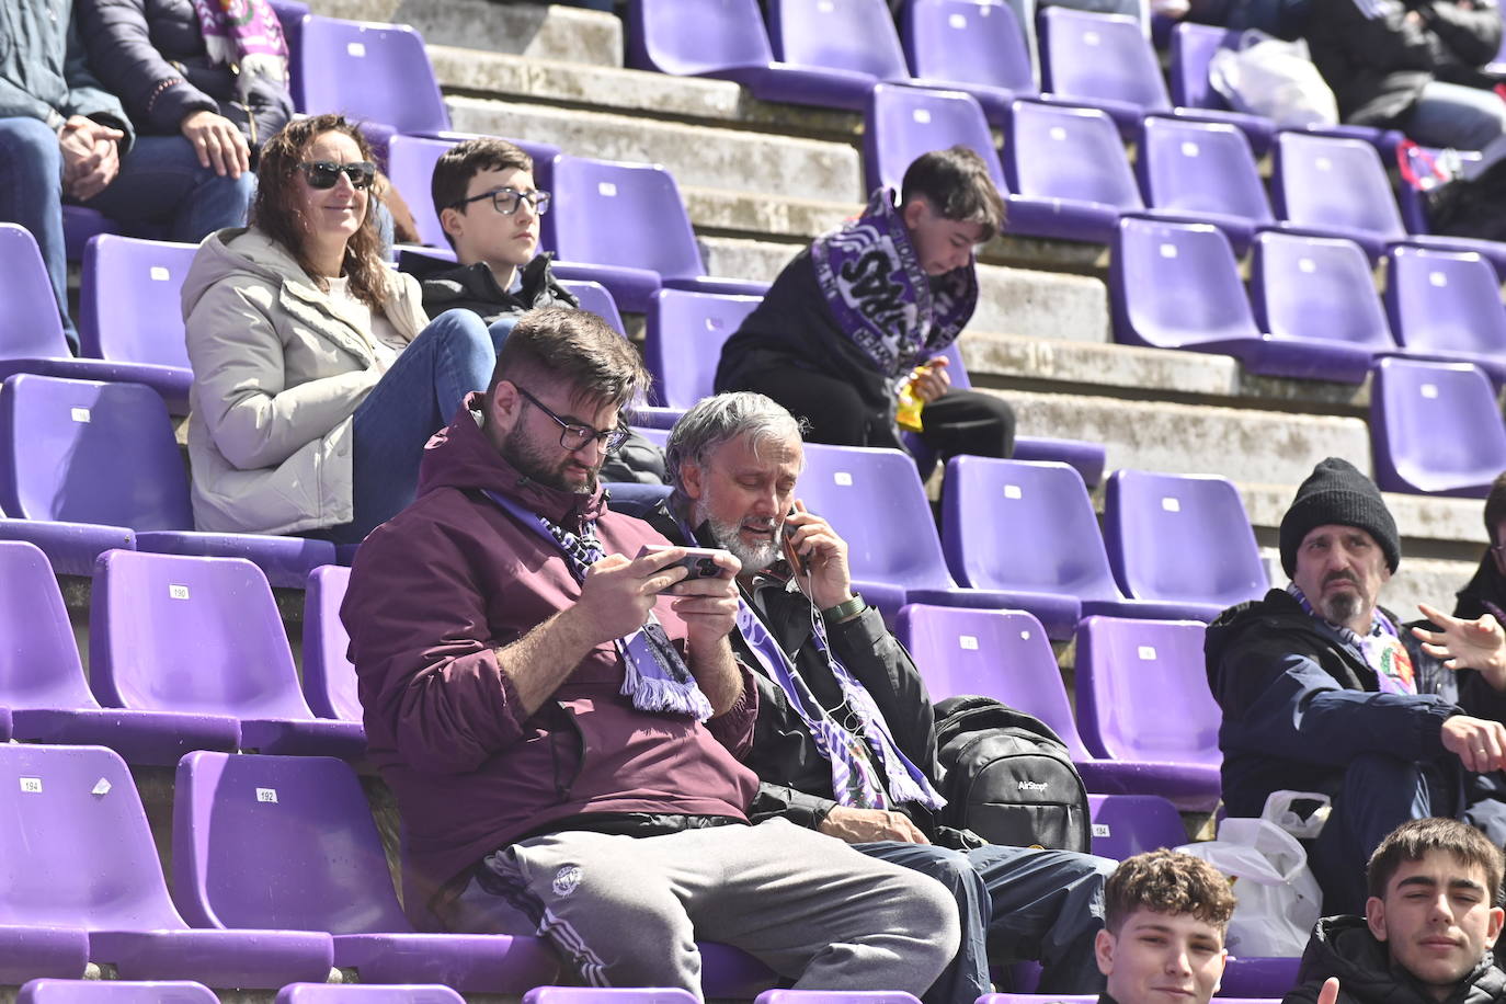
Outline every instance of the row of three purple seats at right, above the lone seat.
{"label": "row of three purple seats at right, above the lone seat", "polygon": [[1236,355],[1251,372],[1282,376],[1360,382],[1376,358],[1407,355],[1473,363],[1506,381],[1506,309],[1483,257],[1398,245],[1386,263],[1383,312],[1358,245],[1264,232],[1247,295],[1217,227],[1130,214],[1108,274],[1114,337]]}

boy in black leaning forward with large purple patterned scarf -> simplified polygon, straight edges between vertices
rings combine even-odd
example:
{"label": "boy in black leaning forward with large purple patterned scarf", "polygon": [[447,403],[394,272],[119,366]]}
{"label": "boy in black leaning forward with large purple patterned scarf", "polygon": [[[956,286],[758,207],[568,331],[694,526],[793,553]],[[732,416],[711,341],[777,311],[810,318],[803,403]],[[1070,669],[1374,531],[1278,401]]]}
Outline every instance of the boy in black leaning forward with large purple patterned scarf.
{"label": "boy in black leaning forward with large purple patterned scarf", "polygon": [[1005,203],[965,146],[923,154],[895,205],[875,191],[861,217],[785,266],[721,349],[717,391],[751,390],[806,418],[812,443],[905,449],[901,393],[922,403],[920,438],[941,459],[1008,458],[1015,417],[991,394],[952,390],[941,352],[977,304],[973,248]]}

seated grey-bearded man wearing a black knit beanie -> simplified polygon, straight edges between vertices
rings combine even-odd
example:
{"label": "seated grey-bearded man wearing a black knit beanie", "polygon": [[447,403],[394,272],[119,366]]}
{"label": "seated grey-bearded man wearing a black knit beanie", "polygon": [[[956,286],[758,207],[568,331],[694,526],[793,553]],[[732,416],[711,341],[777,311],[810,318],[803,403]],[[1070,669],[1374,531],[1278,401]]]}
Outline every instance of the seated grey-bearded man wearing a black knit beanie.
{"label": "seated grey-bearded man wearing a black knit beanie", "polygon": [[1271,792],[1328,795],[1309,866],[1325,914],[1358,914],[1381,838],[1408,819],[1461,816],[1465,774],[1506,766],[1506,729],[1465,713],[1444,665],[1501,659],[1500,629],[1440,614],[1440,631],[1413,637],[1378,605],[1401,537],[1348,461],[1322,461],[1297,489],[1280,549],[1291,584],[1208,628],[1224,805],[1259,816]]}

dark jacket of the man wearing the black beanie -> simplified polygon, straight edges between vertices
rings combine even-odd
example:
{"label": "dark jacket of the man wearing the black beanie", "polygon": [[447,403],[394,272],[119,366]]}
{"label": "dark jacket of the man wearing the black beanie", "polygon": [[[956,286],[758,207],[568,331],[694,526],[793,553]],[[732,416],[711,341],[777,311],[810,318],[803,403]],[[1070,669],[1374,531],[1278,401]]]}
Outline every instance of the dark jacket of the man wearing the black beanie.
{"label": "dark jacket of the man wearing the black beanie", "polygon": [[[1392,619],[1395,622],[1395,617]],[[1363,753],[1408,760],[1444,754],[1441,729],[1461,712],[1455,682],[1416,656],[1417,695],[1381,694],[1360,652],[1285,590],[1226,610],[1208,628],[1208,686],[1223,724],[1223,798],[1230,816],[1259,816],[1271,792],[1336,795]]]}

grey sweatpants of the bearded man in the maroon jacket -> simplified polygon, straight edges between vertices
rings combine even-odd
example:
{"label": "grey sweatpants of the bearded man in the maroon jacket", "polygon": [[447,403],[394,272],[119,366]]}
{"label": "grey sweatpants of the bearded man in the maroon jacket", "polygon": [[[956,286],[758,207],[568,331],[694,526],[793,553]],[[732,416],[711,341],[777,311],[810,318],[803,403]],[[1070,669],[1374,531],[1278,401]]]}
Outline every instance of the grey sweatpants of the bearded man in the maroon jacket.
{"label": "grey sweatpants of the bearded man in the maroon jacket", "polygon": [[742,948],[803,990],[919,995],[959,938],[956,903],[935,879],[783,819],[532,837],[486,856],[465,896],[473,920],[482,891],[527,914],[590,986],[697,998],[697,939]]}

